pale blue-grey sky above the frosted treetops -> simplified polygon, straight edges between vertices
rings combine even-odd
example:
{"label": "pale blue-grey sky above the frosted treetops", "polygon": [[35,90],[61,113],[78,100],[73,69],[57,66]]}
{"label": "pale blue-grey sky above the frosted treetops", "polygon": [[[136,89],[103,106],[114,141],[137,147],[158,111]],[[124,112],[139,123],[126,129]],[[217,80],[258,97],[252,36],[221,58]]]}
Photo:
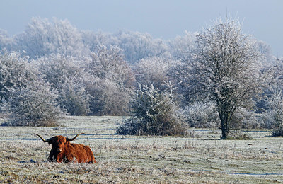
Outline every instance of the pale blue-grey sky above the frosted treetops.
{"label": "pale blue-grey sky above the frosted treetops", "polygon": [[79,30],[119,29],[170,39],[195,32],[216,18],[243,21],[243,33],[283,56],[283,0],[0,0],[0,28],[21,33],[32,17],[68,19]]}

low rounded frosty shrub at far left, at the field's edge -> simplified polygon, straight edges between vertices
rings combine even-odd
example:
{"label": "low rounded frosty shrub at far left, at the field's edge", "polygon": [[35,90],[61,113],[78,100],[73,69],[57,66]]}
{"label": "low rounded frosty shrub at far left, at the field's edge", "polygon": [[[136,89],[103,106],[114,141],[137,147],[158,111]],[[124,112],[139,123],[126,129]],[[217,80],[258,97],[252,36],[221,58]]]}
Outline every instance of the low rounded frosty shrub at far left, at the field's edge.
{"label": "low rounded frosty shrub at far left, at the field's edge", "polygon": [[28,87],[13,88],[11,96],[1,104],[1,113],[8,115],[4,125],[54,126],[62,115],[57,106],[57,94],[42,82]]}

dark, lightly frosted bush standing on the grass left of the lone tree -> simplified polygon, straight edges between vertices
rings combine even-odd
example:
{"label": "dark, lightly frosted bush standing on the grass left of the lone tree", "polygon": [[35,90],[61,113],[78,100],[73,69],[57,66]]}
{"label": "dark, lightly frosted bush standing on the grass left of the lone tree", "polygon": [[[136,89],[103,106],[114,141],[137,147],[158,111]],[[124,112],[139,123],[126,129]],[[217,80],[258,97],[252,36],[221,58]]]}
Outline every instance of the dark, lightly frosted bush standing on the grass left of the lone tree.
{"label": "dark, lightly frosted bush standing on the grass left of the lone tree", "polygon": [[171,93],[139,86],[131,103],[132,117],[118,127],[118,134],[186,135],[187,125]]}

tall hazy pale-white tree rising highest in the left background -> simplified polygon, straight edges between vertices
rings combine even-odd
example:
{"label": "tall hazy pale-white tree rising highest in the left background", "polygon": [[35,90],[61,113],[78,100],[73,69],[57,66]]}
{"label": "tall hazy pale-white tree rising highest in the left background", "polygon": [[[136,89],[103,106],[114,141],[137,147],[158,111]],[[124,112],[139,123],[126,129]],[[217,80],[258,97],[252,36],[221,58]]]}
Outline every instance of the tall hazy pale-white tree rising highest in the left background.
{"label": "tall hazy pale-white tree rising highest in the left background", "polygon": [[26,30],[16,35],[16,49],[36,59],[49,54],[81,57],[88,50],[83,47],[81,34],[69,21],[33,18]]}

